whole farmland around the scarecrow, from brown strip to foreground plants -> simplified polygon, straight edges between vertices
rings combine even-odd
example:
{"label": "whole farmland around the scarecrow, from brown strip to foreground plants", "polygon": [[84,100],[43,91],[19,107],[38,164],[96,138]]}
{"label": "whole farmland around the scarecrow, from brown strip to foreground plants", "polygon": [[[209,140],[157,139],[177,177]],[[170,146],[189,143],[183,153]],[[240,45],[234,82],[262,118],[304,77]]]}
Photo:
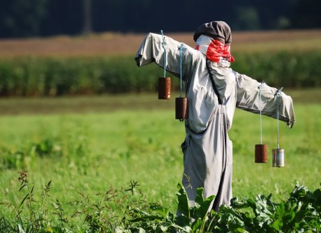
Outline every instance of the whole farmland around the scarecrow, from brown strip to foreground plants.
{"label": "whole farmland around the scarecrow, from brown strip to foreground plants", "polygon": [[[247,203],[263,211],[232,204],[232,211],[210,217],[221,230],[321,229],[320,33],[234,33],[233,69],[285,87],[294,100],[297,122],[292,129],[280,122],[285,167],[276,168],[271,166],[276,120],[262,117],[269,163],[255,164],[260,117],[235,112],[229,132],[233,196],[240,203],[249,198]],[[193,46],[189,33],[170,36]],[[133,54],[142,38],[107,33],[0,41],[0,233],[17,232],[19,225],[26,233],[115,232],[117,225],[137,226],[131,222],[135,213],[139,217],[147,211],[142,221],[147,228],[157,221],[164,227],[168,213],[175,216],[185,136],[184,123],[174,120],[179,93],[173,93],[172,100],[158,100],[152,77],[163,70],[136,68]],[[177,91],[178,80],[172,80]],[[130,195],[135,182],[139,186]],[[315,192],[301,190],[300,197],[290,200],[296,182]],[[274,203],[265,199],[262,204],[255,199],[259,194],[271,194]],[[169,208],[167,216],[149,219],[154,218],[151,202]],[[236,215],[228,216],[232,212]]]}

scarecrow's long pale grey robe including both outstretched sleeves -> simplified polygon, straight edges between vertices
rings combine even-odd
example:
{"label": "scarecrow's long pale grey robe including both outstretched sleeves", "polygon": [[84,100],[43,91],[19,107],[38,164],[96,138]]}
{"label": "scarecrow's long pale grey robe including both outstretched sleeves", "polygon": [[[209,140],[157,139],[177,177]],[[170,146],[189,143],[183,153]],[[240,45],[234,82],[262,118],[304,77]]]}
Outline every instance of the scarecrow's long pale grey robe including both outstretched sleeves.
{"label": "scarecrow's long pale grey robe including both outstretched sleeves", "polygon": [[[199,187],[204,188],[205,198],[216,195],[212,207],[217,211],[221,204],[229,205],[232,199],[232,142],[227,131],[232,126],[235,107],[253,113],[260,113],[261,109],[262,114],[274,119],[278,114],[278,119],[292,127],[295,121],[292,98],[283,92],[276,95],[277,89],[235,72],[225,59],[211,62],[192,47],[167,36],[164,38],[166,61],[163,37],[155,33],[144,38],[135,60],[138,67],[154,62],[179,77],[179,47],[183,45],[181,75],[187,86],[188,119],[186,138],[181,144],[182,184],[192,205]],[[223,102],[221,105],[211,84],[207,63]]]}

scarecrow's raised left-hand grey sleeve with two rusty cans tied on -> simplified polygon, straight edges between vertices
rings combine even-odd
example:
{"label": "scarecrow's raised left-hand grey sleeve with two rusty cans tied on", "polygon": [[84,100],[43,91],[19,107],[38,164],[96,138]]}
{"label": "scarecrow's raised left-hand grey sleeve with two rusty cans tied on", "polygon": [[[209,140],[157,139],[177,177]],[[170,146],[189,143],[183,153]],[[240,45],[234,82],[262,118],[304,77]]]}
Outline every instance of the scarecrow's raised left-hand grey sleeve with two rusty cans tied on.
{"label": "scarecrow's raised left-hand grey sleeve with two rusty cans tied on", "polygon": [[[193,66],[200,56],[199,53],[192,47],[184,43],[179,43],[168,36],[164,36],[164,41],[166,50],[166,70],[178,77],[180,75],[179,47],[183,45],[181,49],[181,73],[182,77],[185,79],[188,75],[191,75]],[[155,33],[147,34],[135,55],[135,61],[138,67],[155,62],[158,66],[164,68],[165,61],[162,35]]]}

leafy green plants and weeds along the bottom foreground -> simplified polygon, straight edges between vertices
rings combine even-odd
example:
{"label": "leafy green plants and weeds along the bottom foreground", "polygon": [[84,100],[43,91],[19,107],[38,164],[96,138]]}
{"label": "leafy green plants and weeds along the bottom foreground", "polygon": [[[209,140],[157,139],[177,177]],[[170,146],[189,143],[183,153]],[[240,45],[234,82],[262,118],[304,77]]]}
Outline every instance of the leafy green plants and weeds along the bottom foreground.
{"label": "leafy green plants and weeds along the bottom foreground", "polygon": [[[38,197],[20,172],[17,200],[0,200],[11,216],[0,218],[2,232],[320,232],[321,188],[311,192],[296,183],[287,200],[275,203],[271,195],[257,195],[254,199],[231,200],[230,206],[221,206],[215,212],[209,208],[215,196],[203,197],[197,189],[193,206],[188,202],[186,190],[177,188],[177,213],[158,203],[147,202],[137,181],[129,188],[112,186],[94,197],[78,192],[79,197],[61,203],[50,196],[52,181]],[[71,216],[64,208],[74,208]],[[82,224],[75,218],[80,217]]]}

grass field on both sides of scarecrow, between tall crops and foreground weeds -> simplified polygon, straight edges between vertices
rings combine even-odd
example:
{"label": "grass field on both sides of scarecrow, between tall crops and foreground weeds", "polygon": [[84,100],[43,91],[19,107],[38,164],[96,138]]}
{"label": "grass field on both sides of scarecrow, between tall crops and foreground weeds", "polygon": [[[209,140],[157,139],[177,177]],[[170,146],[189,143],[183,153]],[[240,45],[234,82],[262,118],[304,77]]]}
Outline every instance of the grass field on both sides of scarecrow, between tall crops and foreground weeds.
{"label": "grass field on both sides of scarecrow, between tall crops and foreground weeds", "polygon": [[[234,196],[272,193],[272,199],[279,201],[285,199],[295,181],[311,190],[320,187],[318,93],[320,89],[290,91],[297,123],[289,129],[280,122],[283,168],[272,167],[271,156],[268,164],[254,163],[260,118],[237,110],[229,133],[234,146]],[[78,192],[96,198],[96,193],[111,185],[126,188],[130,181],[140,184],[148,202],[176,209],[184,123],[174,120],[174,98],[156,98],[156,93],[149,93],[135,97],[1,99],[5,111],[0,116],[0,202],[22,199],[17,178],[20,171],[27,171],[38,196],[52,180],[50,206],[59,200],[71,221],[80,221],[71,218],[76,209],[68,204],[79,197]],[[263,142],[271,151],[277,143],[276,121],[262,119]],[[10,208],[1,206],[0,213],[10,216]]]}

